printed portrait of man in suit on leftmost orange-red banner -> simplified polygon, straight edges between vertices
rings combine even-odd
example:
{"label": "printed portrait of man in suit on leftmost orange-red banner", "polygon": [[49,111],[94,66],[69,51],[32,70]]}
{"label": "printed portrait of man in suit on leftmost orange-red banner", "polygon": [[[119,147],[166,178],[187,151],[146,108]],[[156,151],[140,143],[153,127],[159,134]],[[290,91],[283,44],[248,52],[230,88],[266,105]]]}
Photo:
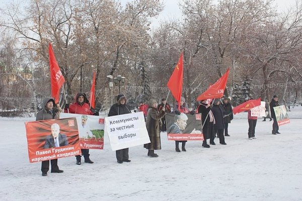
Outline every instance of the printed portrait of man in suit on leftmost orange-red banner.
{"label": "printed portrait of man in suit on leftmost orange-red banner", "polygon": [[44,149],[62,147],[68,145],[65,134],[60,134],[60,126],[58,124],[51,125],[51,135],[45,139]]}

